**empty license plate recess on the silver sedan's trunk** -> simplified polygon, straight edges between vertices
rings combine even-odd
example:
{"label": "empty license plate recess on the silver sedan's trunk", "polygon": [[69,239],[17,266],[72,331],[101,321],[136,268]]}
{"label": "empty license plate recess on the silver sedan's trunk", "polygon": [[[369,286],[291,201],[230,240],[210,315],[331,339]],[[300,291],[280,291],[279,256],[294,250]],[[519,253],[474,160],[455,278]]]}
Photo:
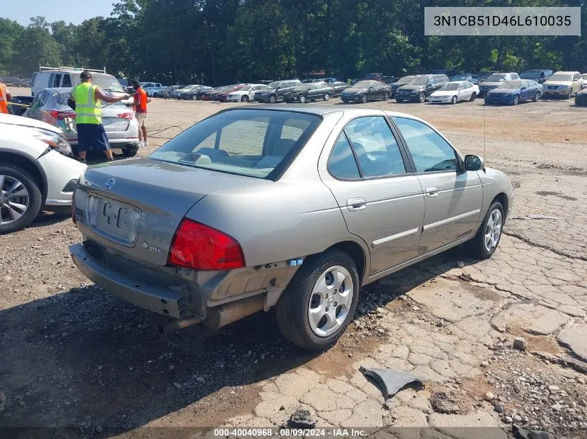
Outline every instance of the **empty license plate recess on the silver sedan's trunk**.
{"label": "empty license plate recess on the silver sedan's trunk", "polygon": [[105,198],[99,198],[97,203],[88,203],[88,205],[97,209],[94,230],[98,234],[124,246],[133,245],[141,216],[138,209]]}

